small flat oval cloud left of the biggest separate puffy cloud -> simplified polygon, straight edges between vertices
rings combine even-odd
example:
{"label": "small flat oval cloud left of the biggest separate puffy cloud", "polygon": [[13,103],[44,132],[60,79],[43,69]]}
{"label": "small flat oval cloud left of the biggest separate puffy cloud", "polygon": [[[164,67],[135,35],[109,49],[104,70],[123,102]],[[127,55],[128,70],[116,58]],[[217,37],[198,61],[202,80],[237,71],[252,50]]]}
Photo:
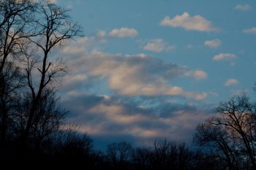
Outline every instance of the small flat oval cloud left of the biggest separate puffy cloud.
{"label": "small flat oval cloud left of the biggest separate puffy cloud", "polygon": [[111,37],[125,38],[138,36],[138,31],[134,28],[116,28],[108,34]]}

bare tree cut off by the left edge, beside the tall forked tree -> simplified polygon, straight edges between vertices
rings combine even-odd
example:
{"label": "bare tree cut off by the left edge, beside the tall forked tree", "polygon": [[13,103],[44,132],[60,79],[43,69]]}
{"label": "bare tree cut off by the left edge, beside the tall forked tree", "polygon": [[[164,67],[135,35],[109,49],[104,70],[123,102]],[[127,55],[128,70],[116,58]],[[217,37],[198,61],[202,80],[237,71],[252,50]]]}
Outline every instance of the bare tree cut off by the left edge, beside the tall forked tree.
{"label": "bare tree cut off by the left edge, beside the tall forked tree", "polygon": [[33,33],[28,26],[34,7],[33,2],[26,0],[0,1],[0,139],[3,148],[12,135],[12,113],[18,107],[18,90],[24,85],[18,60],[20,45]]}

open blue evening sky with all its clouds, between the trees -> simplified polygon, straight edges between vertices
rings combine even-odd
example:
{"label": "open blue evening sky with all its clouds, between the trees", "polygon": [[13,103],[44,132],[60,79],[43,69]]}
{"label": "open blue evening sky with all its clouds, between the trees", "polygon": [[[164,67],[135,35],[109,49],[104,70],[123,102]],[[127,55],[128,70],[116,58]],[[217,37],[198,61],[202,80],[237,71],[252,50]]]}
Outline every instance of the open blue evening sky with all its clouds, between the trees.
{"label": "open blue evening sky with all its clouds, between the trees", "polygon": [[256,1],[58,0],[85,36],[58,54],[69,123],[94,139],[192,142],[220,101],[256,82]]}

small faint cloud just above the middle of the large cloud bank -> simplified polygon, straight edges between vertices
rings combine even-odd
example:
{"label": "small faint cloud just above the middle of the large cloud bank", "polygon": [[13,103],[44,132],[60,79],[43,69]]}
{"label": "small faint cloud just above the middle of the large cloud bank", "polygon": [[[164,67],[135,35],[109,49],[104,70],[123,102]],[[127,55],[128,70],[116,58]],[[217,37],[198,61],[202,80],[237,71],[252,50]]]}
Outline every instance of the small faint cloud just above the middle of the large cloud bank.
{"label": "small faint cloud just above the middle of the large cloud bank", "polygon": [[163,51],[170,51],[174,49],[174,46],[168,46],[163,39],[152,39],[151,41],[147,42],[146,45],[143,47],[143,50],[149,50],[156,53],[161,53]]}

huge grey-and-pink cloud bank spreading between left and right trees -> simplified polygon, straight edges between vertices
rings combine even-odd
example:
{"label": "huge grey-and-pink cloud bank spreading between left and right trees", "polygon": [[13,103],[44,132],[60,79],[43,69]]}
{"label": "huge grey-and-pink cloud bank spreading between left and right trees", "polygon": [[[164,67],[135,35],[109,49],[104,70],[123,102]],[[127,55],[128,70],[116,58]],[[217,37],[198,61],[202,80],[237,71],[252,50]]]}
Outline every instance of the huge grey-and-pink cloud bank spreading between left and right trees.
{"label": "huge grey-and-pink cloud bank spreading between left and right trees", "polygon": [[200,80],[207,74],[144,53],[104,53],[97,44],[100,36],[108,34],[69,42],[61,53],[70,70],[59,88],[69,122],[80,125],[97,146],[191,139],[197,123],[211,115],[192,103],[206,100],[209,93],[184,89],[176,80]]}

